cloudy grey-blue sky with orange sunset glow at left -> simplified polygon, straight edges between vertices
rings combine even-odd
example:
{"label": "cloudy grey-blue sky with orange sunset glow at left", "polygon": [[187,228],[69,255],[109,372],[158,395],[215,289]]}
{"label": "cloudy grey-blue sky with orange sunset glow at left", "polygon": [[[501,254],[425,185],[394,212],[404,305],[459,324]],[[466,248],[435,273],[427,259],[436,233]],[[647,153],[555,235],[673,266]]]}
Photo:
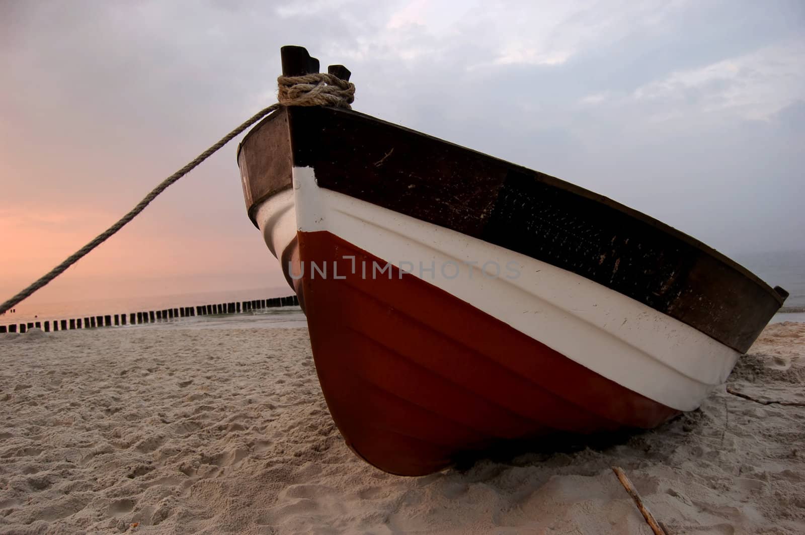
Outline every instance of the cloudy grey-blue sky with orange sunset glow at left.
{"label": "cloudy grey-blue sky with orange sunset glow at left", "polygon": [[[805,249],[801,0],[0,0],[0,300],[273,103],[285,44],[345,64],[357,111],[727,254]],[[29,302],[283,286],[236,149]]]}

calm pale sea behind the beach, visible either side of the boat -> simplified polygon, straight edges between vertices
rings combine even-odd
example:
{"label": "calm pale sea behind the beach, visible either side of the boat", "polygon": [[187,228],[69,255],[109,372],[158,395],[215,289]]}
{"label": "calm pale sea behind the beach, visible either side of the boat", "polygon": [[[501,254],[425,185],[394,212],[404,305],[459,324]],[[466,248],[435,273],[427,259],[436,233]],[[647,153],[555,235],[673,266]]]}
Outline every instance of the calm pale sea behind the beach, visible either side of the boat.
{"label": "calm pale sea behind the beach, visible either side of the boat", "polygon": [[[776,253],[744,253],[733,259],[758,275],[770,286],[782,286],[789,292],[772,323],[805,322],[805,251]],[[157,311],[167,308],[196,307],[198,305],[242,302],[254,299],[284,297],[290,289],[263,288],[142,296],[136,298],[108,298],[75,302],[20,303],[14,313],[0,315],[0,325],[11,323],[44,322],[98,315],[130,314],[138,311]],[[128,325],[126,328],[240,328],[240,327],[306,327],[307,322],[299,307],[263,308],[242,314],[201,315],[176,318],[156,323]]]}

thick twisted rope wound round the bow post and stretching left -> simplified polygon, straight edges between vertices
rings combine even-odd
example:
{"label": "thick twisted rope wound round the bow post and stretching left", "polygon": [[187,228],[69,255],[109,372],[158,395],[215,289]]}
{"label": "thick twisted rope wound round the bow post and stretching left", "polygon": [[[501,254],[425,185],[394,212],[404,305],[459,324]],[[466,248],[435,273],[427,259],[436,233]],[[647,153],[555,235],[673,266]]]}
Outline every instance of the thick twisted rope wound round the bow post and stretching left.
{"label": "thick twisted rope wound round the bow post and stretching left", "polygon": [[47,274],[44,274],[33,282],[31,286],[28,286],[25,290],[19,292],[19,294],[3,302],[2,305],[0,305],[0,314],[8,311],[23,299],[30,297],[36,290],[39,290],[39,288],[64,273],[64,270],[67,270],[67,268],[75,264],[76,261],[81,260],[89,251],[108,240],[109,237],[112,237],[114,233],[117,233],[118,230],[123,228],[126,223],[138,216],[138,214],[142,212],[152,200],[155,200],[157,195],[165,191],[168,186],[175,183],[184,175],[187,175],[196,166],[204,162],[205,159],[212,156],[218,149],[232,141],[238,134],[241,134],[243,130],[254,125],[255,122],[262,119],[262,117],[266,117],[266,115],[273,112],[275,109],[279,109],[280,106],[336,106],[338,108],[351,109],[350,104],[355,100],[355,84],[341,80],[337,76],[332,76],[326,72],[306,74],[304,76],[279,76],[279,78],[277,78],[277,84],[278,102],[276,104],[261,109],[258,113],[249,117],[249,119],[240,126],[237,126],[235,130],[232,130],[229,134],[221,138],[220,141],[210,146],[207,150],[204,150],[204,152],[196,156],[196,158],[193,158],[190,163],[182,167],[179,171],[176,171],[173,175],[167,177],[167,179],[164,179],[157,187],[152,189],[148,195],[143,197],[125,216],[122,216],[115,224],[95,237],[93,241],[90,241],[87,245],[78,249],[75,253],[72,253],[62,263],[56,265],[56,267],[48,271]]}

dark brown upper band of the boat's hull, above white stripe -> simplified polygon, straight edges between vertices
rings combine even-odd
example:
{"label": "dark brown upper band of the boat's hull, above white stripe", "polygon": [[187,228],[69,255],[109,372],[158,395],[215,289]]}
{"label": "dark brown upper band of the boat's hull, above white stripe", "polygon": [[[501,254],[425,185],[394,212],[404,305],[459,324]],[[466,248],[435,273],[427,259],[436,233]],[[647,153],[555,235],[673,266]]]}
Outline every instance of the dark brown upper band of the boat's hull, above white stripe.
{"label": "dark brown upper band of the boat's hull, above white stripe", "polygon": [[741,265],[675,228],[571,183],[329,108],[281,109],[242,142],[246,206],[313,167],[320,187],[579,274],[746,352],[782,305]]}

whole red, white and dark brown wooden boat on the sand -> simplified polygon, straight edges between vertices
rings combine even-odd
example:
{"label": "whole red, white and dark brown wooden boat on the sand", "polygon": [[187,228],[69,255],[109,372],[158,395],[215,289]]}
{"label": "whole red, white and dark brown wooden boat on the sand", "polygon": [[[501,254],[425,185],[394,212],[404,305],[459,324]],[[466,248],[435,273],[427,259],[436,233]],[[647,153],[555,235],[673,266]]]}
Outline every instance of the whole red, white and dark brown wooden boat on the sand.
{"label": "whole red, white and dark brown wooden boat on the sand", "polygon": [[332,418],[394,474],[696,409],[787,295],[603,195],[363,113],[279,109],[237,160]]}

